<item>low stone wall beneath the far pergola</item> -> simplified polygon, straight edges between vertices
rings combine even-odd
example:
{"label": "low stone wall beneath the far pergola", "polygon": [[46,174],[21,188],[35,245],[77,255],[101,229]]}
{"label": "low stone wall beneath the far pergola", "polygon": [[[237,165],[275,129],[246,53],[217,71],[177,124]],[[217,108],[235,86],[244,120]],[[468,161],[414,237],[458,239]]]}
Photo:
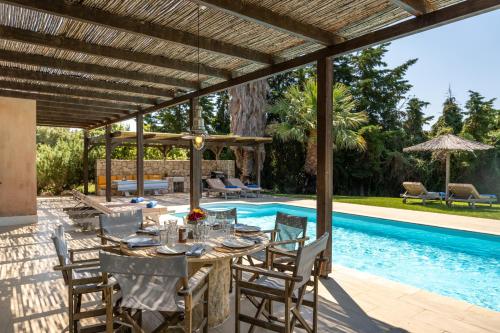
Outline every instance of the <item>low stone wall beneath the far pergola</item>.
{"label": "low stone wall beneath the far pergola", "polygon": [[[203,160],[202,177],[210,177],[212,171],[222,171],[229,177],[235,175],[233,160]],[[136,174],[135,160],[111,160],[112,176],[133,176]],[[184,191],[189,191],[189,160],[144,160],[145,175],[160,175],[162,178],[184,177]],[[96,161],[96,179],[106,175],[106,160]],[[170,184],[170,190],[172,189]]]}

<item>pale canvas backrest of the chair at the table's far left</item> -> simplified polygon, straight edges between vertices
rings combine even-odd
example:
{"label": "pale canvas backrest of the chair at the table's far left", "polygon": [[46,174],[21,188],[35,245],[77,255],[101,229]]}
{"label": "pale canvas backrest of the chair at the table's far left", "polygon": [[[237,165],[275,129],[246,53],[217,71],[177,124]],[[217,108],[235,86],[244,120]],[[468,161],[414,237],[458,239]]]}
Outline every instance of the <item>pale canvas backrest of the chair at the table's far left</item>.
{"label": "pale canvas backrest of the chair at the table's far left", "polygon": [[142,227],[142,210],[99,215],[99,234],[102,244],[118,243]]}

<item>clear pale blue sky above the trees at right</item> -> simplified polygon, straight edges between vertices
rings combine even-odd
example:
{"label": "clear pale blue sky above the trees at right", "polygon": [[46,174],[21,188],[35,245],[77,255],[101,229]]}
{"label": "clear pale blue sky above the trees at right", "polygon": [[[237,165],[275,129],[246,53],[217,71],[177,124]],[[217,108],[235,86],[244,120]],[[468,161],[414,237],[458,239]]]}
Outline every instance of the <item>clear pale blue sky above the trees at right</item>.
{"label": "clear pale blue sky above the trees at right", "polygon": [[411,58],[418,62],[407,73],[410,96],[431,103],[428,115],[440,115],[448,86],[462,106],[468,90],[500,99],[500,10],[393,41],[385,61],[394,67]]}

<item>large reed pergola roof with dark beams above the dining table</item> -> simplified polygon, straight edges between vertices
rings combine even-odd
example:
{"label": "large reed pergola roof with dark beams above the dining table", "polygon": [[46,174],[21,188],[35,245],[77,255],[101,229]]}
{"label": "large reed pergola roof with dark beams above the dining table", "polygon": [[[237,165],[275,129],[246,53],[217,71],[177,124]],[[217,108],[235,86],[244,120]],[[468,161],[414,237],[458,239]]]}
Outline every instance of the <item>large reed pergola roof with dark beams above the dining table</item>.
{"label": "large reed pergola roof with dark beams above the dining table", "polygon": [[0,0],[0,96],[39,101],[39,125],[90,129],[499,6],[500,0]]}

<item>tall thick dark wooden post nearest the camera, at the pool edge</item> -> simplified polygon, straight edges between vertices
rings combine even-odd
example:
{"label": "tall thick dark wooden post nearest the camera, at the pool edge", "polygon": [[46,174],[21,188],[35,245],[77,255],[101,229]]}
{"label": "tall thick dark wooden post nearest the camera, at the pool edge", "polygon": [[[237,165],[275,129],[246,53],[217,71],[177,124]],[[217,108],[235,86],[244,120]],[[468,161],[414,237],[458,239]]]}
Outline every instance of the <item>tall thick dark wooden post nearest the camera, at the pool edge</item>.
{"label": "tall thick dark wooden post nearest the camera, at the pool edge", "polygon": [[333,191],[333,144],[332,144],[332,89],[333,66],[330,57],[317,62],[318,105],[317,105],[317,169],[316,182],[316,235],[330,233],[327,245],[328,264],[325,265],[323,276],[332,270],[332,191]]}

